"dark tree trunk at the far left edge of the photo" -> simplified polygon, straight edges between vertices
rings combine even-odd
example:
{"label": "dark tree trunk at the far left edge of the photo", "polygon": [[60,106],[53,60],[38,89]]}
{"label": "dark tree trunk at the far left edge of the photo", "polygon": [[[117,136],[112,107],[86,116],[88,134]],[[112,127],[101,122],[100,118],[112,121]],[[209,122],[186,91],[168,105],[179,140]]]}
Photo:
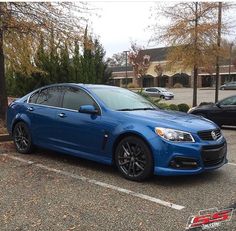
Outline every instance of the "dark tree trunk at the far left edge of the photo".
{"label": "dark tree trunk at the far left edge of the photo", "polygon": [[0,28],[0,118],[5,119],[7,110],[7,94],[5,81],[5,65],[3,53],[3,29]]}

